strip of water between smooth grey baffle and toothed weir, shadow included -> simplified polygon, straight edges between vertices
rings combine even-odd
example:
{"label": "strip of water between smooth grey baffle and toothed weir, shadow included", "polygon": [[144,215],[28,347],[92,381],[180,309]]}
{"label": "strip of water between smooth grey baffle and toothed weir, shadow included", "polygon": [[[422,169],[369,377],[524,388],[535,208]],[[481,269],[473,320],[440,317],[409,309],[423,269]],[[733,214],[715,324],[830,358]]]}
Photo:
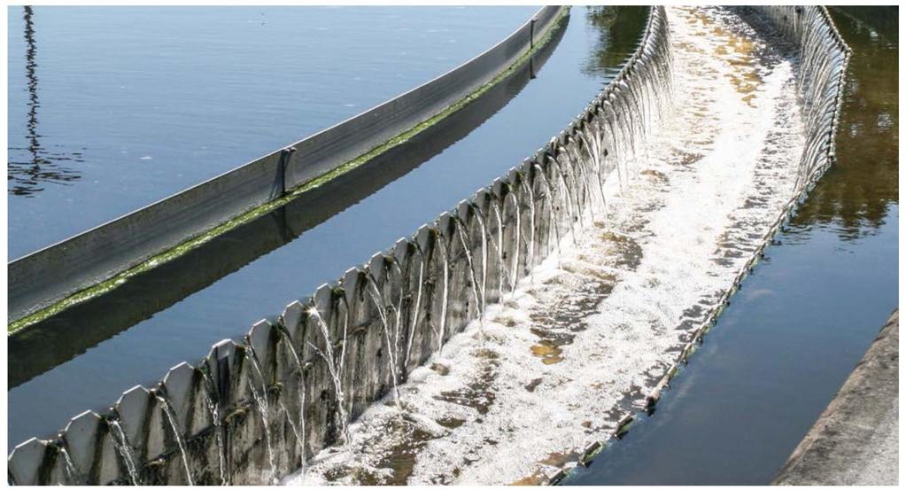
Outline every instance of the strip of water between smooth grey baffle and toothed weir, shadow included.
{"label": "strip of water between smooth grey baffle and toothed weir, shadow included", "polygon": [[199,359],[503,175],[616,74],[646,16],[646,7],[573,8],[534,79],[519,73],[350,180],[11,338],[7,440],[50,435],[76,413]]}

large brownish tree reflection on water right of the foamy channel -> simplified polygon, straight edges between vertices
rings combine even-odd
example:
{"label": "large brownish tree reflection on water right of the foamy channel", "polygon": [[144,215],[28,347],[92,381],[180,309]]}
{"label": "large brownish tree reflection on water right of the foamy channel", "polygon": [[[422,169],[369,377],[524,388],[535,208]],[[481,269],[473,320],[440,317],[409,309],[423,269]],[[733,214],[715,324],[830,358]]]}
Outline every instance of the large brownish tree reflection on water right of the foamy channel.
{"label": "large brownish tree reflection on water right of the foamy channel", "polygon": [[872,234],[898,202],[898,8],[832,7],[853,48],[837,134],[839,161],[793,221],[832,227],[842,240]]}

